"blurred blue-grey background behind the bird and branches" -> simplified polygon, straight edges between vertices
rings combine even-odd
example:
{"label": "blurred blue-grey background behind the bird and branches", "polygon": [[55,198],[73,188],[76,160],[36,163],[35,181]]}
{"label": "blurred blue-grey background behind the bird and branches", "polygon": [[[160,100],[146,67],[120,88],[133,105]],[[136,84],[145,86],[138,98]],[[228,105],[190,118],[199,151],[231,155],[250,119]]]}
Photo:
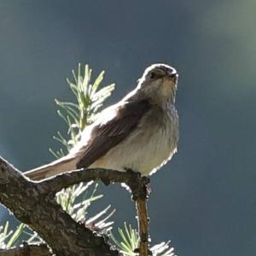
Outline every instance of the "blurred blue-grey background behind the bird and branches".
{"label": "blurred blue-grey background behind the bird and branches", "polygon": [[[151,237],[171,239],[178,255],[254,255],[255,9],[252,0],[1,0],[0,154],[21,170],[53,159],[52,135],[66,131],[54,99],[72,99],[65,79],[78,62],[116,83],[107,105],[165,62],[180,74],[181,136],[151,177]],[[125,189],[101,191],[91,211],[111,203],[115,227],[136,224]]]}

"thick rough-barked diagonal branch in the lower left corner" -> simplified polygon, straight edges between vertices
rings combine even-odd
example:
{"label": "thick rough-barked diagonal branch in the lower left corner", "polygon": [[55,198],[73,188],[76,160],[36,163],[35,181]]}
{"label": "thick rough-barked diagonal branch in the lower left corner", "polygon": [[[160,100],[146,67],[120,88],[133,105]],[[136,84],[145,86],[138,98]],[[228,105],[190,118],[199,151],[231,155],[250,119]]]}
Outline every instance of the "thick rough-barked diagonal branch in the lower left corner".
{"label": "thick rough-barked diagonal branch in the lower left corner", "polygon": [[0,157],[0,202],[38,232],[56,255],[118,255],[102,236],[76,223],[67,212]]}

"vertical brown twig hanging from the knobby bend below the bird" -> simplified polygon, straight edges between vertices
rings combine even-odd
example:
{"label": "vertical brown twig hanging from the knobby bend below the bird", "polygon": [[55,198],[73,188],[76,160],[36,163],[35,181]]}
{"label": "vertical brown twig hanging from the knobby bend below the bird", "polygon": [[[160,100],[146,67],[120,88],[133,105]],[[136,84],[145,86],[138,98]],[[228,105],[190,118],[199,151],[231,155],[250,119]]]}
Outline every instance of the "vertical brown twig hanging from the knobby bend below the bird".
{"label": "vertical brown twig hanging from the knobby bend below the bird", "polygon": [[133,172],[131,169],[126,170],[131,173],[131,179],[129,187],[132,193],[132,200],[136,202],[137,207],[137,223],[139,230],[139,247],[134,250],[135,253],[139,253],[140,256],[152,255],[148,249],[148,209],[147,201],[150,194],[148,177],[142,177],[139,172]]}

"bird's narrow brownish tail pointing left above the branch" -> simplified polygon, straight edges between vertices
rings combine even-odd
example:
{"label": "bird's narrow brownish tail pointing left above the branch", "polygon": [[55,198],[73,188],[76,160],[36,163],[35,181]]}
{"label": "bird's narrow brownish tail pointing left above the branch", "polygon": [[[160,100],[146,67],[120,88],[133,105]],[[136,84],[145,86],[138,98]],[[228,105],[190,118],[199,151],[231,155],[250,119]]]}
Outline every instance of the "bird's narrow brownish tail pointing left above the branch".
{"label": "bird's narrow brownish tail pointing left above the branch", "polygon": [[75,169],[77,169],[75,157],[67,154],[67,156],[61,157],[59,160],[55,160],[48,165],[40,166],[38,168],[24,172],[23,174],[32,180],[40,180]]}

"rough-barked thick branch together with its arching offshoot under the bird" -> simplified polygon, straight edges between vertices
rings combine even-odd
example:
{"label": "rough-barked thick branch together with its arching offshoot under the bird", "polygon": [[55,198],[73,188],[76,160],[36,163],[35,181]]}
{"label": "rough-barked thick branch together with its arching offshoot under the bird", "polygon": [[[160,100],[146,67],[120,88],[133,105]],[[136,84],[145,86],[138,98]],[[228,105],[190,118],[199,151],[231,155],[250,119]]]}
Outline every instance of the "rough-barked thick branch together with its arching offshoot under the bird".
{"label": "rough-barked thick branch together with its arching offshoot under the bird", "polygon": [[22,223],[38,232],[56,255],[120,255],[110,247],[104,237],[96,235],[84,224],[75,222],[55,202],[56,192],[91,180],[102,180],[106,185],[115,182],[128,185],[137,205],[141,238],[138,252],[141,256],[148,256],[148,178],[129,170],[118,172],[107,169],[81,169],[32,182],[0,157],[0,203],[8,207]]}

